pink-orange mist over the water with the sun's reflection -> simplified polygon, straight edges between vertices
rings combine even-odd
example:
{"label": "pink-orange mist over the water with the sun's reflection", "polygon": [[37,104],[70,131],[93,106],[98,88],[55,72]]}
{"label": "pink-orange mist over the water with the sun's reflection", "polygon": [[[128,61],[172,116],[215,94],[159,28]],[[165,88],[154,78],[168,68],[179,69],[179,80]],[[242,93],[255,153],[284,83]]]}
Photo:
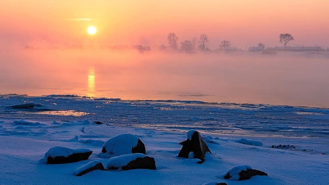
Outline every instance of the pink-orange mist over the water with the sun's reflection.
{"label": "pink-orange mist over the water with the sun's reflection", "polygon": [[0,93],[329,107],[329,59],[278,53],[1,51]]}

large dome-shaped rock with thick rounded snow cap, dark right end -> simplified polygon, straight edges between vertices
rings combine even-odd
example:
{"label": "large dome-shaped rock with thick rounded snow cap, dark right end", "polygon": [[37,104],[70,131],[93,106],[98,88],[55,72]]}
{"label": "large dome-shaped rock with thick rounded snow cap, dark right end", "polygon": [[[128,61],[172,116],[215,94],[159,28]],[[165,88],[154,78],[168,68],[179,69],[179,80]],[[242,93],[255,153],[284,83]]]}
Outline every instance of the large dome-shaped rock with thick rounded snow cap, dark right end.
{"label": "large dome-shaped rock with thick rounded snow cap, dark right end", "polygon": [[102,152],[99,153],[100,157],[111,158],[114,156],[143,153],[146,154],[144,143],[133,134],[120,134],[107,140]]}

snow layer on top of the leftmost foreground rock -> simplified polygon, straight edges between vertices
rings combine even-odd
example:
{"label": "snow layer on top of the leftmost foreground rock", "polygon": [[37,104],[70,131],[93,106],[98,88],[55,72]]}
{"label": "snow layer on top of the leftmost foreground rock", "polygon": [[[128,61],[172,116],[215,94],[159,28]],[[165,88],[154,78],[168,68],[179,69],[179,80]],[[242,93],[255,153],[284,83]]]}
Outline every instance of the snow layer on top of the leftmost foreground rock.
{"label": "snow layer on top of the leftmost foreground rock", "polygon": [[39,162],[46,163],[49,156],[51,156],[51,157],[58,157],[58,156],[67,157],[69,155],[72,155],[73,153],[86,153],[86,152],[90,152],[90,150],[84,149],[84,148],[67,148],[67,147],[55,146],[55,147],[51,147],[44,154],[44,157],[39,160]]}

